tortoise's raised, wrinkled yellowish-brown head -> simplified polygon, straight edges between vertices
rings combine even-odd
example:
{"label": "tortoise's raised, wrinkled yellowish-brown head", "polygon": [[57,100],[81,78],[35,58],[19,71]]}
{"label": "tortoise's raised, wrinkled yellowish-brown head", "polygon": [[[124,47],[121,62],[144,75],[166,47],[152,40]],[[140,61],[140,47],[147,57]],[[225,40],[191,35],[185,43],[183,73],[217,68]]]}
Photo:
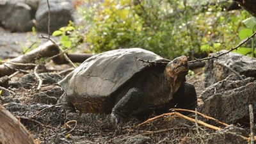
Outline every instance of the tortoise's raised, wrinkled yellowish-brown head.
{"label": "tortoise's raised, wrinkled yellowish-brown head", "polygon": [[164,69],[164,76],[173,89],[173,93],[177,92],[181,83],[184,82],[185,76],[188,74],[188,58],[180,56],[170,61]]}

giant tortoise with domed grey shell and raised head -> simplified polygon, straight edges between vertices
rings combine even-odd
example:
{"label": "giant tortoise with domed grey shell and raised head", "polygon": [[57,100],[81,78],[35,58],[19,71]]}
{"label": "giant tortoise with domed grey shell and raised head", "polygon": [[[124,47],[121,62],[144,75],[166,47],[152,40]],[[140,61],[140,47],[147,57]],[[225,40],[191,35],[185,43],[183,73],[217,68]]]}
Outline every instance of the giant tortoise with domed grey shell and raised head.
{"label": "giant tortoise with domed grey shell and raised head", "polygon": [[186,56],[170,61],[140,48],[103,52],[60,81],[65,95],[59,101],[81,113],[111,113],[116,123],[157,109],[195,109],[196,92],[186,82],[187,73]]}

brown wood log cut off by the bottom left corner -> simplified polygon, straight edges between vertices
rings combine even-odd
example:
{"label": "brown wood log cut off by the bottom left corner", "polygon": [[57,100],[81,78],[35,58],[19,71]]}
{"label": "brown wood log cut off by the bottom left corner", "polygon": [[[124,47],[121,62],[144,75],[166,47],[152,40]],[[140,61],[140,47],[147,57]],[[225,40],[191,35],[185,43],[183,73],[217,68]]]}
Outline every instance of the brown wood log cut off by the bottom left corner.
{"label": "brown wood log cut off by the bottom left corner", "polygon": [[0,143],[33,144],[34,140],[24,125],[0,105]]}

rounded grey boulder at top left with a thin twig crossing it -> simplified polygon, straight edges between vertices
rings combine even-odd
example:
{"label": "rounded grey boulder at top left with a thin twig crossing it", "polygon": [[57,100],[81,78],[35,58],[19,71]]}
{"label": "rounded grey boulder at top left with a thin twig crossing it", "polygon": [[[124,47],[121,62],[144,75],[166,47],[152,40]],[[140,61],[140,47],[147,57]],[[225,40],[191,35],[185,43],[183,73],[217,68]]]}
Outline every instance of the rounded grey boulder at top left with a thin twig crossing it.
{"label": "rounded grey boulder at top left with a thin twig crossing it", "polygon": [[[63,26],[67,26],[69,20],[74,20],[72,17],[71,1],[68,0],[49,0],[51,6],[51,32]],[[36,30],[47,31],[48,25],[48,6],[47,1],[41,0],[36,11]]]}

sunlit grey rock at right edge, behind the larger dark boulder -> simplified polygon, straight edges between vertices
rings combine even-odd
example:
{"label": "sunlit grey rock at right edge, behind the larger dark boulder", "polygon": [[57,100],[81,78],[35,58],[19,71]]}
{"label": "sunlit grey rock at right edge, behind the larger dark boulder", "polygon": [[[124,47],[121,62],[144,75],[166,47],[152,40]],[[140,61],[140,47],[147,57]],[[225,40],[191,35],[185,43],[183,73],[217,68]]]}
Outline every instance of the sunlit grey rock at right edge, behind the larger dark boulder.
{"label": "sunlit grey rock at right edge, behind the larger dark boulder", "polygon": [[[214,53],[218,55],[226,51]],[[211,54],[212,55],[212,54]],[[230,52],[228,55],[220,56],[220,58],[207,61],[205,65],[205,87],[210,86],[218,81],[225,79],[232,71],[223,65],[232,68],[240,75],[245,77],[256,77],[256,59],[248,56],[243,56],[235,52]]]}

